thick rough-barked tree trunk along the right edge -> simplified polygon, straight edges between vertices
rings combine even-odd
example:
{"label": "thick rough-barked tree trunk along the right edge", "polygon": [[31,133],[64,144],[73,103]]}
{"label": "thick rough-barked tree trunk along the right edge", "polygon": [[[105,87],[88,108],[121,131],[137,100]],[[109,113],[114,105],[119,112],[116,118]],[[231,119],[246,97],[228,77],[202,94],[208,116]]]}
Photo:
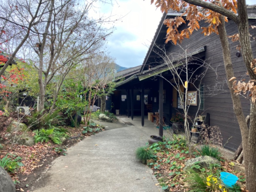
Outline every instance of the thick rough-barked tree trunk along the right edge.
{"label": "thick rough-barked tree trunk along the right edge", "polygon": [[[245,0],[237,1],[238,11],[238,31],[240,44],[242,47],[243,59],[252,80],[256,79],[256,75],[251,68],[253,60],[252,45],[250,42],[248,15]],[[256,106],[251,102],[250,110],[250,127],[249,130],[241,129],[243,141],[244,166],[246,175],[246,189],[255,191],[256,189]]]}

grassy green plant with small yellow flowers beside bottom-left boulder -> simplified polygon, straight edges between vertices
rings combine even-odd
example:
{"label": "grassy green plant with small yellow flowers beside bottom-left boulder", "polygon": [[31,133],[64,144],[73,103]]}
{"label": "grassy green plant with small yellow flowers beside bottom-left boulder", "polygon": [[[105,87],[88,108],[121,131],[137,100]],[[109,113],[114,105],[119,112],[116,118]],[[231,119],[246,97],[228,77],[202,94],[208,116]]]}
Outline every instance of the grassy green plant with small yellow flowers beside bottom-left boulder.
{"label": "grassy green plant with small yellow flowers beside bottom-left boulder", "polygon": [[3,167],[7,172],[14,173],[14,171],[16,171],[19,167],[24,166],[20,162],[21,161],[20,156],[16,157],[14,160],[12,160],[11,158],[9,158],[7,156],[8,156],[8,154],[0,160],[0,167]]}

